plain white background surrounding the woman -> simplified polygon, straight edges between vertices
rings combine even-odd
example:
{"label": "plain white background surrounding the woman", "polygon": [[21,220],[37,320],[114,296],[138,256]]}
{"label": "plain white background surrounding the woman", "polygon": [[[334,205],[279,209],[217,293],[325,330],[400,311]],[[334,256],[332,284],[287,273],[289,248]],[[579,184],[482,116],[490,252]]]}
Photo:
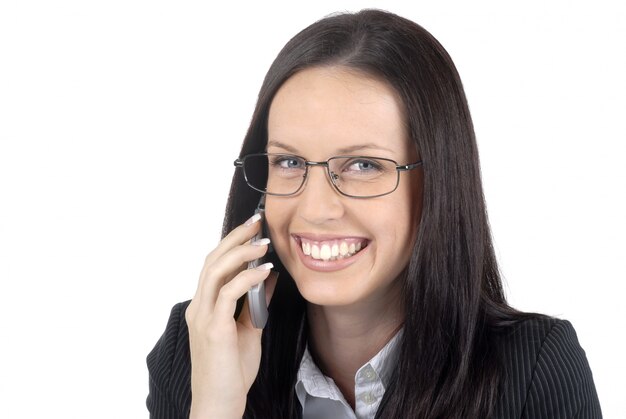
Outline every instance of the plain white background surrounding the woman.
{"label": "plain white background surrounding the woman", "polygon": [[0,3],[0,417],[147,417],[145,356],[219,241],[269,64],[382,7],[456,62],[510,301],[572,321],[625,418],[620,3]]}

